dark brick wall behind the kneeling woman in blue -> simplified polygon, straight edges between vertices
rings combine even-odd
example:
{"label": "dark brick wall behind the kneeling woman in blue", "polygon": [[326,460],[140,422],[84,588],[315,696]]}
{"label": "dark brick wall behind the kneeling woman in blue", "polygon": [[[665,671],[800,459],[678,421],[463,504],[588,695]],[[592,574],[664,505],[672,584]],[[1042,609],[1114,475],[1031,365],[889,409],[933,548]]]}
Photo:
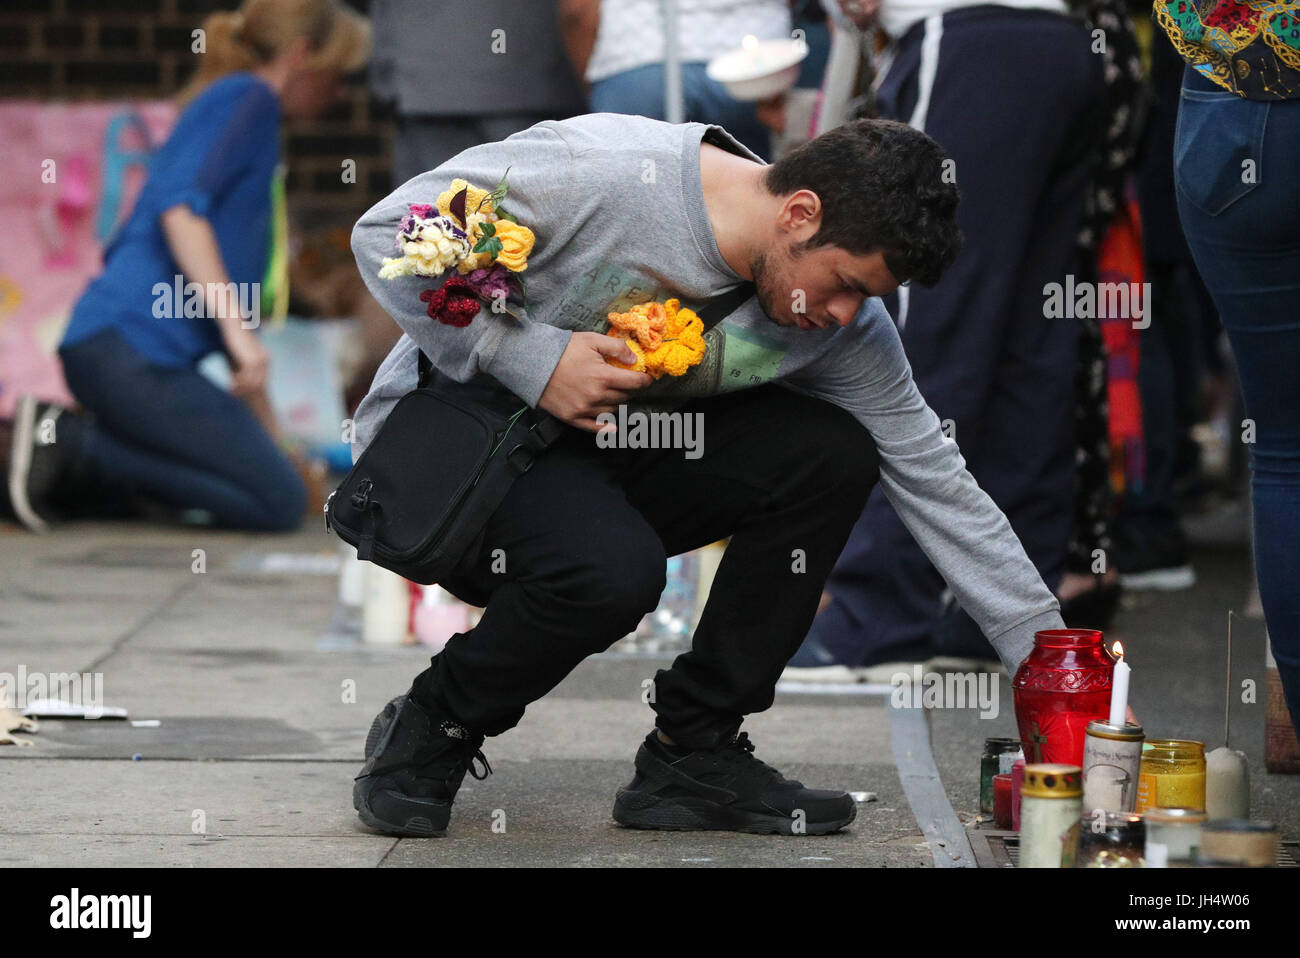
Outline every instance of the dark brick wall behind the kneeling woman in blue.
{"label": "dark brick wall behind the kneeling woman in blue", "polygon": [[[368,0],[348,0],[365,12]],[[190,31],[238,0],[0,0],[0,97],[164,99],[195,68]],[[364,78],[311,123],[286,122],[283,155],[294,208],[364,212],[390,188],[391,114]],[[356,161],[343,182],[342,161]]]}

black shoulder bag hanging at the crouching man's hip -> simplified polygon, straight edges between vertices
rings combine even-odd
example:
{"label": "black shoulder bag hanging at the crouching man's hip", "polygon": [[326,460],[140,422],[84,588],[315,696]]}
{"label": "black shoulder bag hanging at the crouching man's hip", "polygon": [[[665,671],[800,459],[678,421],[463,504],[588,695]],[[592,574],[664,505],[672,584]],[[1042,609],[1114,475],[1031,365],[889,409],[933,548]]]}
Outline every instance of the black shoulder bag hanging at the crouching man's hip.
{"label": "black shoulder bag hanging at the crouching man's hip", "polygon": [[[742,283],[699,311],[710,329],[754,292]],[[416,389],[398,400],[370,445],[325,500],[325,529],[356,558],[430,585],[477,549],[511,484],[567,426],[504,394],[493,402],[448,387],[421,351]]]}

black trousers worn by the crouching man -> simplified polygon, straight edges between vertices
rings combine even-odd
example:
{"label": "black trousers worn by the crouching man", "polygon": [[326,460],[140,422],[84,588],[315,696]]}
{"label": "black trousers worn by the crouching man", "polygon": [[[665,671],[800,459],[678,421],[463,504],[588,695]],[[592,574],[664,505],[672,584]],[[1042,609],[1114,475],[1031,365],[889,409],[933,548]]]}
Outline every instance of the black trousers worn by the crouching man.
{"label": "black trousers worn by the crouching man", "polygon": [[711,747],[772,705],[879,476],[875,443],[844,409],[771,383],[679,412],[703,416],[698,459],[601,448],[572,429],[515,482],[482,549],[442,584],[482,619],[420,673],[417,701],[500,734],[655,608],[667,556],[731,537],[653,708],[675,741]]}

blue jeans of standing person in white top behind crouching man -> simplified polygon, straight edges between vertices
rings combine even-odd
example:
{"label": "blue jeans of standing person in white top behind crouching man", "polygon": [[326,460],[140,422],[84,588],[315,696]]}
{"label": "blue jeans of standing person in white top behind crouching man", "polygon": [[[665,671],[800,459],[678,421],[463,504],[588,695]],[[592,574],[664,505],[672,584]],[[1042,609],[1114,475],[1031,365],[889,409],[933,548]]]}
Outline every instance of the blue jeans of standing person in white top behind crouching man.
{"label": "blue jeans of standing person in white top behind crouching man", "polygon": [[[772,140],[767,127],[758,120],[758,108],[753,103],[733,100],[722,83],[708,79],[705,66],[681,65],[684,120],[716,123],[764,160],[770,160]],[[592,84],[592,112],[666,118],[663,64],[637,66],[595,81]]]}

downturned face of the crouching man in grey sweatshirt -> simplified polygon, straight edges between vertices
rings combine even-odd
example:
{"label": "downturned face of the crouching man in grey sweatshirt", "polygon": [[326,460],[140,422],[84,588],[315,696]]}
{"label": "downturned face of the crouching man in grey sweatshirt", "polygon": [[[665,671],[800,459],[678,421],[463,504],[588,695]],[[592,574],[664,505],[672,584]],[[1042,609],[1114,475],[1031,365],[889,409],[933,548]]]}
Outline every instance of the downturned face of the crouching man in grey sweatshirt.
{"label": "downturned face of the crouching man in grey sweatshirt", "polygon": [[884,253],[850,253],[837,246],[798,251],[798,239],[777,239],[751,264],[758,302],[772,322],[826,329],[853,322],[867,296],[898,289]]}

